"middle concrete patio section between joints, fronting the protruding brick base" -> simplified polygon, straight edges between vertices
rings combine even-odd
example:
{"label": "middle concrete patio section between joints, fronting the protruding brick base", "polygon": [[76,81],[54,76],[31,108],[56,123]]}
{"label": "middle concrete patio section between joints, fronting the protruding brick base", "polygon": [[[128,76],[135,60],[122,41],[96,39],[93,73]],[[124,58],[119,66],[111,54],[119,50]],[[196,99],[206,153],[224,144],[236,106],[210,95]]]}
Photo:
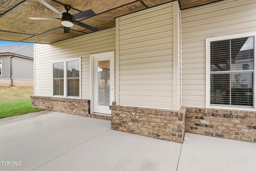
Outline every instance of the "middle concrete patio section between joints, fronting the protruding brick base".
{"label": "middle concrete patio section between joints, fronting the protruding brick base", "polygon": [[180,148],[180,143],[108,130],[35,171],[174,171]]}

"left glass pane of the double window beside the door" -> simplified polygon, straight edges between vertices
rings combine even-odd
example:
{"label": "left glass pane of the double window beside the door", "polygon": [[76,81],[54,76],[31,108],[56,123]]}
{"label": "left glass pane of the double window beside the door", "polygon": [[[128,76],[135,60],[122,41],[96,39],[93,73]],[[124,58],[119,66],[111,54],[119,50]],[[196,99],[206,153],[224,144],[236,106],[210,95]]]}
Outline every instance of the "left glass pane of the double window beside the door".
{"label": "left glass pane of the double window beside the door", "polygon": [[64,62],[53,64],[53,94],[64,95]]}

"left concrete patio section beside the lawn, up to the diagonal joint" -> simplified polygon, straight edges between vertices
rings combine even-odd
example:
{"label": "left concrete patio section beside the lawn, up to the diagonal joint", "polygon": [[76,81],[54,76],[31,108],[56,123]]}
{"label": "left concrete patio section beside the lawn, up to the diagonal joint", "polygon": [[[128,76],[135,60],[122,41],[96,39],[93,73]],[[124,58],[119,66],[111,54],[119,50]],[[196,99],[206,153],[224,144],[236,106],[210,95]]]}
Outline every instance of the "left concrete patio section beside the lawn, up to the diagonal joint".
{"label": "left concrete patio section beside the lawn, up to the diagonal joint", "polygon": [[110,129],[110,122],[58,113],[30,113],[0,119],[0,170],[29,171]]}

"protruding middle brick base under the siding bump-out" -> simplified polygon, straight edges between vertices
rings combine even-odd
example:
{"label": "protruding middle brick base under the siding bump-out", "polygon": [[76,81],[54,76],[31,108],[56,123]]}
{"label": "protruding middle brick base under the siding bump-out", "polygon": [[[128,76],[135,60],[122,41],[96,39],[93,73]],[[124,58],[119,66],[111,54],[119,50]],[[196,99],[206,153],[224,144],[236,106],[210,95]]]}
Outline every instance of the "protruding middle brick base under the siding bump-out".
{"label": "protruding middle brick base under the siding bump-out", "polygon": [[186,108],[179,111],[115,105],[111,129],[182,143]]}

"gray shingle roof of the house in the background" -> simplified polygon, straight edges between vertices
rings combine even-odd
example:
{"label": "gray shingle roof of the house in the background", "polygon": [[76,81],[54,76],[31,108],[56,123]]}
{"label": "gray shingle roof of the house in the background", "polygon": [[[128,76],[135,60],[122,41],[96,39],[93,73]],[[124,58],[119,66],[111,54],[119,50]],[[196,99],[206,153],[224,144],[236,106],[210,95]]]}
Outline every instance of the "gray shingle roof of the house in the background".
{"label": "gray shingle roof of the house in the background", "polygon": [[0,46],[0,53],[13,53],[34,58],[34,48],[29,45]]}

